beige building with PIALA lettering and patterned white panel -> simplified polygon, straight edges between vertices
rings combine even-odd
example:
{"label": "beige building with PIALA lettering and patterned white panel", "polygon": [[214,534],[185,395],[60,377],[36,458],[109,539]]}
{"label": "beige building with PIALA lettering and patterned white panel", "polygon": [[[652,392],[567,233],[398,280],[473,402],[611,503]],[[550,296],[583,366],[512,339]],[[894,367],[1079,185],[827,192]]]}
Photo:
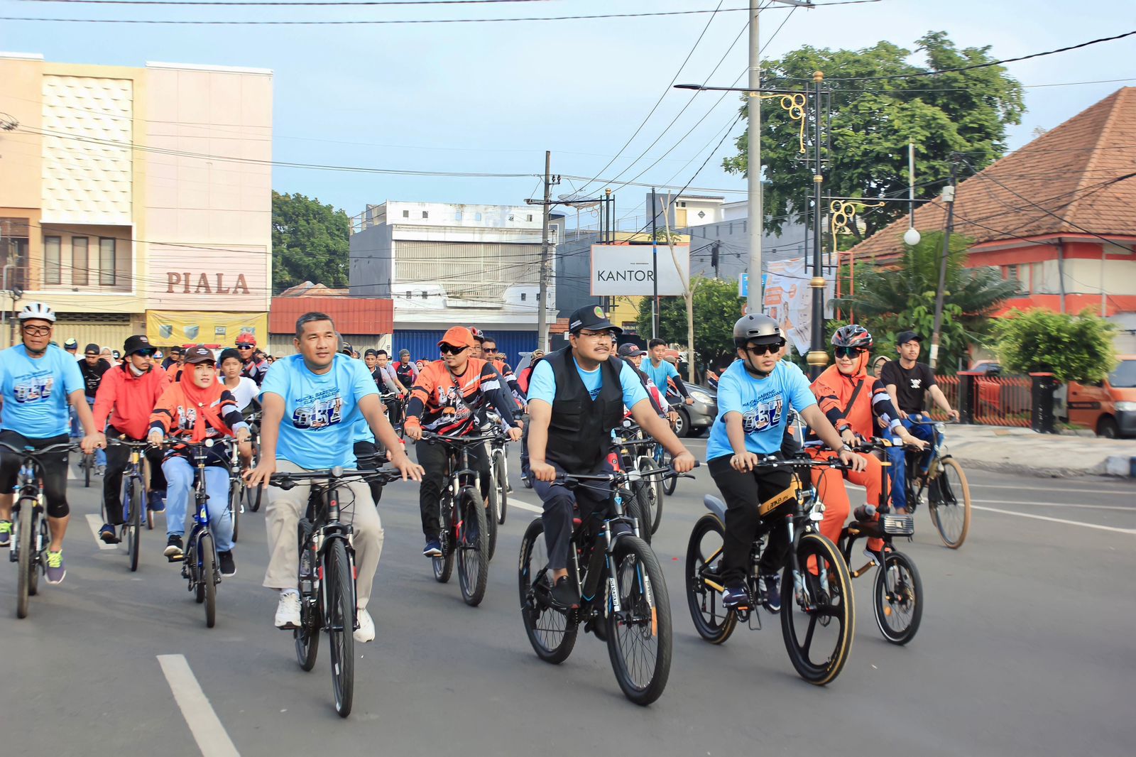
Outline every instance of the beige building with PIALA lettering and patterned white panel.
{"label": "beige building with PIALA lettering and patterned white panel", "polygon": [[267,341],[272,72],[0,52],[0,82],[7,319],[48,302],[81,349]]}

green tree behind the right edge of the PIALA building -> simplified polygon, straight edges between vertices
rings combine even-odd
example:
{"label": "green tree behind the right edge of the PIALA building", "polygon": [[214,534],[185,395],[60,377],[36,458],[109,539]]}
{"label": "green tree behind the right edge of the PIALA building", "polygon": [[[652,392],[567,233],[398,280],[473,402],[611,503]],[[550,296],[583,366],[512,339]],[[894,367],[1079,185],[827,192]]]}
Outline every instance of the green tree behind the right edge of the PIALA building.
{"label": "green tree behind the right edge of the PIALA building", "polygon": [[315,198],[273,192],[273,286],[348,285],[348,214]]}

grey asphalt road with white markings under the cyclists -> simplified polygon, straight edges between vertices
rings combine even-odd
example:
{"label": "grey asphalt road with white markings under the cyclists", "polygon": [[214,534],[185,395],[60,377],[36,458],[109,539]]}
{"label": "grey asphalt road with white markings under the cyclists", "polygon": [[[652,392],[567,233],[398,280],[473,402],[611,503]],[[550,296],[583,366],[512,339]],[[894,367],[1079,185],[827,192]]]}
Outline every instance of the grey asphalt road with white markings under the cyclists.
{"label": "grey asphalt road with white markings under the cyclists", "polygon": [[[701,454],[704,441],[692,447]],[[417,488],[392,485],[370,602],[378,637],[356,648],[346,721],[332,707],[326,640],[303,673],[291,634],[272,625],[262,513],[242,518],[239,573],[219,587],[210,630],[161,557],[162,522],[143,533],[132,574],[125,548],[100,549],[89,527],[99,490],[72,482],[67,579],[41,582],[26,619],[15,616],[15,565],[0,563],[0,754],[1130,756],[1136,485],[980,472],[970,481],[976,511],[961,550],[941,546],[925,510],[914,543],[902,546],[922,574],[917,638],[902,648],[883,640],[869,573],[855,584],[849,663],[822,689],[794,673],[777,618],[721,647],[695,634],[682,559],[713,486],[704,469],[680,481],[654,541],[674,665],[649,708],[624,699],[591,634],[560,666],[533,654],[516,574],[533,511],[509,510],[486,599],[469,608],[457,577],[436,583],[420,555]],[[515,501],[537,504],[516,483]]]}

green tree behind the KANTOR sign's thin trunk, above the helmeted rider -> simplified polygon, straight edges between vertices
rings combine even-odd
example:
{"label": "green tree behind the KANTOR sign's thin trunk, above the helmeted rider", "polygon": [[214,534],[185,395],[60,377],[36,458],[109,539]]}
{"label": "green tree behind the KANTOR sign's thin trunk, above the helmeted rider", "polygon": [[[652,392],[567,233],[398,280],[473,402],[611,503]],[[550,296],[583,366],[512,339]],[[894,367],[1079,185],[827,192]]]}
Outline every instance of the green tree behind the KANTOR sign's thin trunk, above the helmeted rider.
{"label": "green tree behind the KANTOR sign's thin trunk, above the helmeted rider", "polygon": [[[708,365],[734,347],[734,322],[742,317],[743,300],[737,283],[695,276],[694,353]],[[640,300],[635,326],[641,334],[651,333],[651,298]],[[686,302],[682,297],[659,298],[659,336],[673,344],[686,342]]]}

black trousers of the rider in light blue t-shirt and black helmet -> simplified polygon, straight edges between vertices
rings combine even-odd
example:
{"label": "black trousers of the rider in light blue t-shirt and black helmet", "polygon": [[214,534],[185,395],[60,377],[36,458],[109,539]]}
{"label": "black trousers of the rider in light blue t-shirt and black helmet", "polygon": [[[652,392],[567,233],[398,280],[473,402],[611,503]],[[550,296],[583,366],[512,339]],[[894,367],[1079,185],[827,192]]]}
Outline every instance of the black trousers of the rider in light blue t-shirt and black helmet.
{"label": "black trousers of the rider in light blue t-shirt and black helmet", "polygon": [[707,464],[710,477],[726,500],[726,536],[722,556],[722,580],[737,585],[745,580],[753,540],[762,530],[769,530],[769,543],[761,555],[758,569],[772,575],[785,563],[788,534],[780,515],[762,523],[758,515],[761,502],[788,489],[793,474],[788,468],[755,469],[741,473],[729,465],[729,455],[716,457]]}

